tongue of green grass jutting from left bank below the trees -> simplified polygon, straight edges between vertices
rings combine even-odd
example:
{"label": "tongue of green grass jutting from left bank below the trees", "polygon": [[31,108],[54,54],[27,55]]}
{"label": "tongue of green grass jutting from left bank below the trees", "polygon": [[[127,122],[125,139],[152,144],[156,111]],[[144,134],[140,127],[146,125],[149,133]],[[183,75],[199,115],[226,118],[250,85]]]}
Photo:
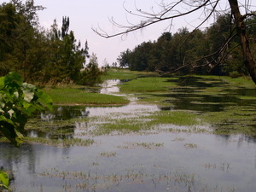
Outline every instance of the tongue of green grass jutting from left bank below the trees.
{"label": "tongue of green grass jutting from left bank below the trees", "polygon": [[84,90],[63,88],[45,90],[55,105],[124,105],[129,101],[122,96],[109,96],[90,93]]}

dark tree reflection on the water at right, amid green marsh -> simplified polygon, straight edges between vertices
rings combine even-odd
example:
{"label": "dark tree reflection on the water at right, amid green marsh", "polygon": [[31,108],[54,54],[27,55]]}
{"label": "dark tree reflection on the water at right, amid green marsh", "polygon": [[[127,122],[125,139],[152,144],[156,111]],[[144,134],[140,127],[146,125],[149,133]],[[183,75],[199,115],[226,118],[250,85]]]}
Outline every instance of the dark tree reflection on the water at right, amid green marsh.
{"label": "dark tree reflection on the water at right, amid green marsh", "polygon": [[[169,80],[176,82],[181,87],[172,89],[169,94],[155,95],[166,97],[165,102],[170,102],[173,109],[194,110],[198,112],[221,112],[230,106],[256,106],[255,99],[241,99],[241,96],[256,96],[256,89],[236,88],[223,90],[216,95],[202,94],[201,91],[209,87],[224,86],[224,82],[208,79],[211,83],[203,82],[200,77],[179,78]],[[170,98],[170,99],[168,99]]]}

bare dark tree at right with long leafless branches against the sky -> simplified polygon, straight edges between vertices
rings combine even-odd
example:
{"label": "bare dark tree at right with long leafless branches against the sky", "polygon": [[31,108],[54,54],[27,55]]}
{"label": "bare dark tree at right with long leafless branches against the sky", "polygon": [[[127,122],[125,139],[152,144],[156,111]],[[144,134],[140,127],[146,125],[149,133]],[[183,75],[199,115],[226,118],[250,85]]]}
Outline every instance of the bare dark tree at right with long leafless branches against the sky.
{"label": "bare dark tree at right with long leafless branches against the sky", "polygon": [[[122,25],[117,23],[115,20],[112,20],[113,25],[118,26],[119,28],[123,29],[125,28],[125,31],[115,33],[113,35],[108,35],[107,32],[99,32],[99,30],[94,29],[94,31],[99,34],[102,37],[105,38],[112,38],[115,36],[123,35],[128,32],[134,32],[138,29],[142,29],[147,26],[155,25],[156,23],[159,23],[163,20],[175,20],[177,17],[183,17],[186,15],[190,15],[191,13],[195,11],[202,12],[201,15],[205,15],[205,18],[201,18],[201,26],[204,24],[212,15],[218,15],[219,12],[225,12],[227,11],[231,13],[230,22],[234,22],[235,29],[230,30],[229,38],[226,39],[224,44],[221,44],[218,48],[218,51],[214,53],[215,55],[224,55],[227,56],[228,54],[225,54],[224,51],[226,51],[226,47],[229,46],[229,43],[235,38],[239,38],[239,45],[241,47],[241,53],[242,53],[242,61],[244,67],[247,67],[247,72],[250,74],[251,78],[253,79],[253,82],[256,84],[256,62],[253,52],[252,52],[252,40],[251,38],[248,38],[248,26],[247,26],[247,20],[250,18],[254,18],[256,15],[252,11],[250,11],[250,3],[249,1],[245,1],[245,3],[239,3],[238,0],[228,0],[226,4],[226,9],[218,10],[218,8],[222,8],[223,5],[221,5],[222,1],[220,0],[206,0],[206,1],[193,1],[193,0],[181,0],[177,2],[165,2],[161,1],[160,5],[160,12],[155,12],[152,9],[152,12],[146,12],[143,11],[143,9],[136,8],[136,12],[125,9],[128,14],[130,15],[137,15],[142,20],[133,25],[133,22],[129,22],[128,25]],[[244,9],[244,14],[241,14],[241,8]],[[197,29],[199,26],[195,27]],[[255,33],[254,33],[255,34]],[[255,36],[253,36],[253,39],[255,39]],[[204,57],[206,58],[206,57]],[[213,65],[209,63],[209,67],[216,67],[218,66],[221,61],[223,61],[223,58],[220,56],[216,57],[218,60],[216,60]],[[210,65],[211,64],[211,65]],[[186,63],[183,65],[183,67],[187,67],[191,65],[191,63]],[[196,65],[195,65],[196,66]]]}

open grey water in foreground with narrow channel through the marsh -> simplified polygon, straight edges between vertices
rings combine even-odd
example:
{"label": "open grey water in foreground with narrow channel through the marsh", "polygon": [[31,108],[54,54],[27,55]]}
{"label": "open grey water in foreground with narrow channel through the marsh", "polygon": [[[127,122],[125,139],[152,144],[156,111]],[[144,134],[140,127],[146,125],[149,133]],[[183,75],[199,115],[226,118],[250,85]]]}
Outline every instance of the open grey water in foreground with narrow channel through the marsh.
{"label": "open grey water in foreground with narrow channel through the marsh", "polygon": [[[119,81],[107,82],[102,93],[118,94],[116,84]],[[190,98],[188,93],[186,96]],[[239,101],[231,103],[234,102],[239,104]],[[186,103],[180,100],[174,107],[163,109],[183,109]],[[216,105],[210,109],[207,105],[206,109],[199,104],[196,110],[221,110],[222,105],[217,109]],[[131,103],[124,107],[57,107],[55,113],[41,114],[41,118],[50,122],[51,119],[103,117],[108,113],[137,115],[158,110],[161,108],[155,105],[138,105],[131,96]],[[72,137],[76,137],[80,128],[74,125]],[[30,134],[50,137],[40,136],[37,131]],[[96,143],[89,147],[70,148],[41,144],[14,148],[0,143],[0,167],[11,172],[11,189],[17,192],[254,192],[256,189],[256,141],[252,137],[159,132],[93,139]]]}

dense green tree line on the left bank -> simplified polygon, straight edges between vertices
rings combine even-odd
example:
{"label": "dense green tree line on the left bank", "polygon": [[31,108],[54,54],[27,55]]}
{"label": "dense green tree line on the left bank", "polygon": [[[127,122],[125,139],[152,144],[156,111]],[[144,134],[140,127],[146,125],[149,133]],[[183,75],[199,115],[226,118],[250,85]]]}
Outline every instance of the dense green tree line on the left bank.
{"label": "dense green tree line on the left bank", "polygon": [[99,81],[96,55],[90,58],[87,41],[82,46],[69,30],[69,17],[62,18],[61,27],[54,20],[46,30],[39,26],[39,10],[44,7],[34,5],[33,0],[0,5],[0,76],[15,71],[26,82],[40,84]]}

